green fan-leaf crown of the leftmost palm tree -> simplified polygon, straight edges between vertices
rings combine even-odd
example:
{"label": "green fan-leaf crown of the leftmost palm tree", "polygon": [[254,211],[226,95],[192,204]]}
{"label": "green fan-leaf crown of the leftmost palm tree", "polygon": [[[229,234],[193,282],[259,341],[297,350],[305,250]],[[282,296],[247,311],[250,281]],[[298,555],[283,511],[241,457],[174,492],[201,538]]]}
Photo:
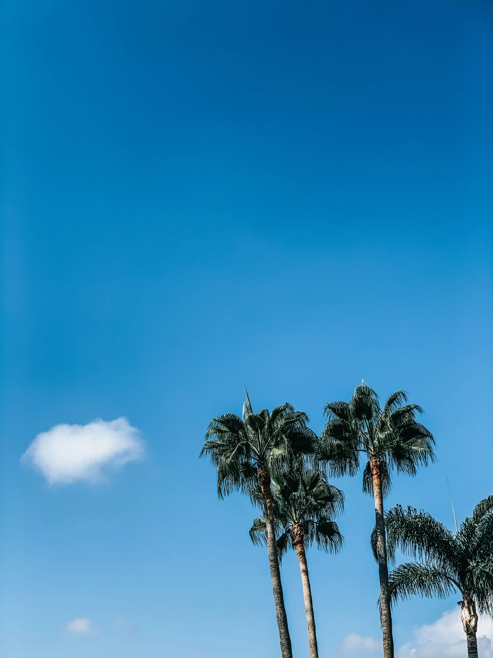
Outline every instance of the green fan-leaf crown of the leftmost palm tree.
{"label": "green fan-leaf crown of the leftmost palm tree", "polygon": [[314,455],[317,436],[307,423],[308,415],[289,403],[253,413],[248,393],[242,418],[231,413],[213,418],[200,457],[208,455],[217,468],[218,495],[232,490],[250,495],[258,484],[258,468],[273,474]]}

